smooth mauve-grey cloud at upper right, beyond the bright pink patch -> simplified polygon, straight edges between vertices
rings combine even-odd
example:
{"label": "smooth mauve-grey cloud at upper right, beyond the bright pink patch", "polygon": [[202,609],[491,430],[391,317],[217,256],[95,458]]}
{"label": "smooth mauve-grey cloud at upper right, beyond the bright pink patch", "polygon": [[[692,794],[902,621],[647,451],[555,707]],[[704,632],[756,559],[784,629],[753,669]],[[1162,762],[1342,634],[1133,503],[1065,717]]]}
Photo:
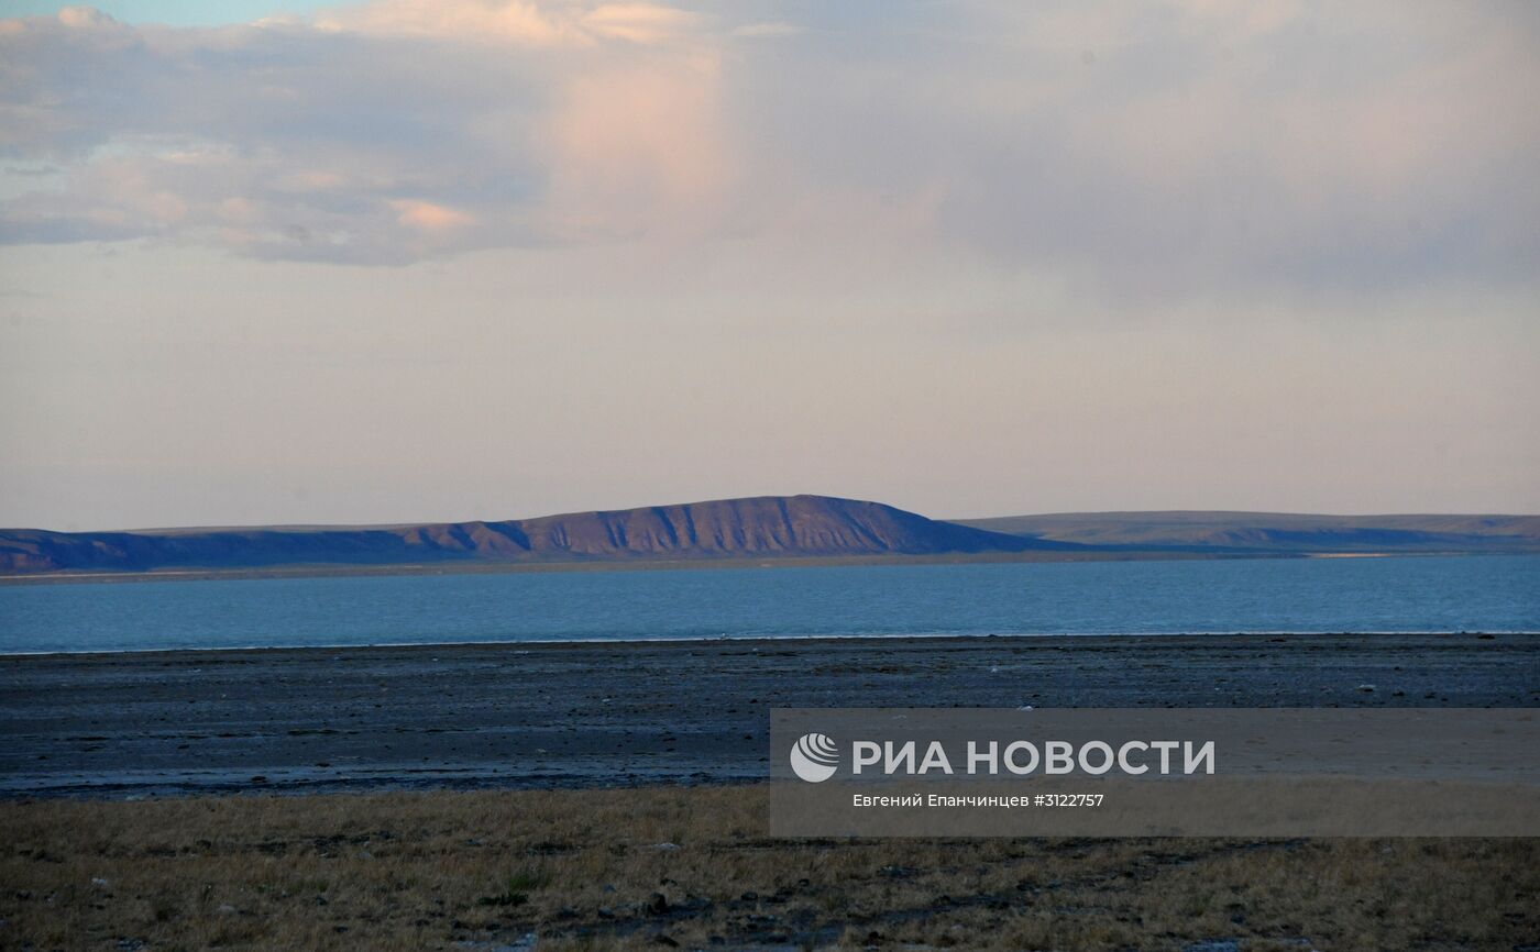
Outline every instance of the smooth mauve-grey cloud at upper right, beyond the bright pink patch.
{"label": "smooth mauve-grey cloud at upper right, beyond the bright pink patch", "polygon": [[970,5],[847,58],[805,54],[815,28],[742,80],[745,151],[824,205],[924,206],[909,231],[939,246],[1121,295],[1532,292],[1534,23],[1354,9]]}

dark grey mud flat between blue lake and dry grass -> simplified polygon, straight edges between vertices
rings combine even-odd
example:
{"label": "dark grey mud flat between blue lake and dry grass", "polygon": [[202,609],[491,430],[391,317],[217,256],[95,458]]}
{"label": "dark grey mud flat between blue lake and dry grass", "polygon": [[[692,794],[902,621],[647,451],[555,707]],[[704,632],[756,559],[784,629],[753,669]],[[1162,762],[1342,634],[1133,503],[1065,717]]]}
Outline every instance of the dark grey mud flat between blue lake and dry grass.
{"label": "dark grey mud flat between blue lake and dry grass", "polygon": [[765,774],[772,707],[1021,704],[1540,706],[1540,635],[5,657],[0,795],[744,783]]}

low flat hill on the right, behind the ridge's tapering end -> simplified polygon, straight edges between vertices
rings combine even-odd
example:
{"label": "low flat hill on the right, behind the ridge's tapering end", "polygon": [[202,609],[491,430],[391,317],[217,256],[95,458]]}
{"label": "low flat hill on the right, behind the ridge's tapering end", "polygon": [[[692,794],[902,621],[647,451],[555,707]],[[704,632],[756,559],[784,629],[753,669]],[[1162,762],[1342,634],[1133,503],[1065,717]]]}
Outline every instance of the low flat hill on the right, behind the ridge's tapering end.
{"label": "low flat hill on the right, behind the ridge's tapering end", "polygon": [[1540,515],[1061,512],[956,520],[1041,541],[1234,554],[1540,552]]}

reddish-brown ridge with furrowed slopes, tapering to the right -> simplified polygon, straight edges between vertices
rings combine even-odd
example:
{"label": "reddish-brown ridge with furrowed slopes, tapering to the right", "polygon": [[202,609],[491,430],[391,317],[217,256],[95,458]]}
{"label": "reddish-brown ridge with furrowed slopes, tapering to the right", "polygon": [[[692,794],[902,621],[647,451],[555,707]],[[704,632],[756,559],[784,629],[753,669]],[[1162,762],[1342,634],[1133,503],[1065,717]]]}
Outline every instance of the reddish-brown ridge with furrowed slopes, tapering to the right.
{"label": "reddish-brown ridge with furrowed slopes, tapering to the right", "polygon": [[0,574],[1075,551],[821,495],[371,528],[0,529]]}

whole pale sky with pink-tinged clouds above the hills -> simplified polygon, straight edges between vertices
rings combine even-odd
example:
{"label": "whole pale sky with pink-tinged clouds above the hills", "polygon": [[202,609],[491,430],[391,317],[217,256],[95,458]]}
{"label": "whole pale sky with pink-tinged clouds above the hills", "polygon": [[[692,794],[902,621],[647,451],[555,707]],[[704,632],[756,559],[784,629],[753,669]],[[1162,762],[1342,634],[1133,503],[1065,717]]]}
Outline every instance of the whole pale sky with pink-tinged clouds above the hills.
{"label": "whole pale sky with pink-tinged clouds above the hills", "polygon": [[1537,11],[0,0],[0,524],[1540,512]]}

